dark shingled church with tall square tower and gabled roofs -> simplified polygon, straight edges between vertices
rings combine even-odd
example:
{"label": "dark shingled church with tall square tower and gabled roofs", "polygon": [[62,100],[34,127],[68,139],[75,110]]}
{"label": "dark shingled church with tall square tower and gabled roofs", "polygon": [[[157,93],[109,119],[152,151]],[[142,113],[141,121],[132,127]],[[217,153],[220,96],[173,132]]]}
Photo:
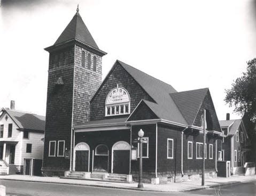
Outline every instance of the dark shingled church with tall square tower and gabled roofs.
{"label": "dark shingled church with tall square tower and gabled roofs", "polygon": [[117,60],[102,81],[102,56],[77,10],[50,53],[44,175],[65,171],[138,178],[138,131],[144,131],[143,179],[199,178],[206,110],[206,176],[217,172],[222,131],[208,88],[174,87]]}

